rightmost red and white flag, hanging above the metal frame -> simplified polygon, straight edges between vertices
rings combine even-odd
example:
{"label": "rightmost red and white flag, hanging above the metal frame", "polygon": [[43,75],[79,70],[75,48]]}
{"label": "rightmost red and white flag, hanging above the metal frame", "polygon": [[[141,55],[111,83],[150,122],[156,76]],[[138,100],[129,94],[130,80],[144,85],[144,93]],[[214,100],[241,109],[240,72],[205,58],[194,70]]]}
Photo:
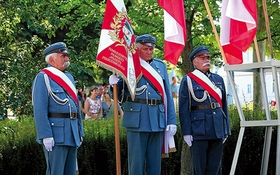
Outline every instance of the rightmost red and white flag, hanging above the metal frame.
{"label": "rightmost red and white flag, hanging above the metal frame", "polygon": [[242,52],[257,30],[256,0],[223,0],[220,41],[228,64],[241,64]]}

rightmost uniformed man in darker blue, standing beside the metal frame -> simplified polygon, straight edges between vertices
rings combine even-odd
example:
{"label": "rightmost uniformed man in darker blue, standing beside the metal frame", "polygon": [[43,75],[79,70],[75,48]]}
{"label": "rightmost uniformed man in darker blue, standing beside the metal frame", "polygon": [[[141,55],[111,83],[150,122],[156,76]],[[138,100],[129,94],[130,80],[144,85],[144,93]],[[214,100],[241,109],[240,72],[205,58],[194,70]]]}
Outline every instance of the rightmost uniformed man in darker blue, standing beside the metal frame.
{"label": "rightmost uniformed man in darker blue, standing beside the metal frame", "polygon": [[223,142],[230,118],[223,78],[211,73],[209,49],[190,54],[195,71],[181,80],[179,118],[183,139],[190,146],[193,174],[221,174]]}

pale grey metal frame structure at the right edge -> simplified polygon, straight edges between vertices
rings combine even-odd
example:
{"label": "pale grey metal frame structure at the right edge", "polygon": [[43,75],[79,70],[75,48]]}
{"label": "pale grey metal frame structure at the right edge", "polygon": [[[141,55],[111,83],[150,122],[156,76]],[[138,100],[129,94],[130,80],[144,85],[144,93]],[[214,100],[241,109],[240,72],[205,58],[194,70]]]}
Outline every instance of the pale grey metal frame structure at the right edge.
{"label": "pale grey metal frame structure at the right edge", "polygon": [[[237,146],[235,148],[235,155],[232,160],[232,167],[230,169],[230,174],[235,174],[235,169],[237,165],[237,160],[239,156],[239,151],[241,148],[241,142],[243,139],[244,131],[246,127],[266,127],[265,130],[265,141],[262,152],[262,167],[260,174],[267,174],[268,160],[269,160],[269,150],[271,145],[272,138],[272,127],[277,127],[277,144],[276,144],[276,174],[280,174],[280,97],[279,97],[279,84],[277,78],[277,72],[280,71],[280,61],[272,59],[268,62],[255,62],[250,64],[237,64],[237,65],[228,65],[224,66],[224,70],[227,72],[228,79],[230,81],[230,86],[232,87],[232,93],[235,98],[237,105],[237,111],[240,118],[240,131],[239,137],[237,140]],[[250,120],[246,121],[244,118],[244,113],[241,109],[241,104],[237,96],[237,90],[235,89],[235,81],[232,78],[231,71],[249,71],[249,72],[259,72],[260,80],[262,86],[262,97],[264,98],[264,107],[266,113],[266,120]],[[265,72],[272,72],[273,82],[274,82],[274,93],[276,99],[276,109],[277,109],[277,119],[272,120],[269,112],[269,102],[267,100],[266,84],[265,84]]]}

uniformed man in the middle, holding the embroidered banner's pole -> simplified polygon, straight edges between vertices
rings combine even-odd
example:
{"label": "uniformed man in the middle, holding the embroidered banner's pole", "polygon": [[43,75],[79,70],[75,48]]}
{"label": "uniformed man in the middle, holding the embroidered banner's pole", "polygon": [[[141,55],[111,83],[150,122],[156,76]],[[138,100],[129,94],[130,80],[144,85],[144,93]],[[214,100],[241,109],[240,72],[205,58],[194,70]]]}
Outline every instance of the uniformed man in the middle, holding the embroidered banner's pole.
{"label": "uniformed man in the middle, holding the embroidered banner's pole", "polygon": [[[129,174],[160,175],[164,131],[169,130],[170,136],[176,133],[174,103],[167,67],[161,59],[153,58],[155,38],[144,34],[136,38],[136,43],[139,57],[146,61],[148,69],[159,74],[160,80],[163,81],[167,104],[163,104],[162,94],[158,92],[157,87],[153,87],[154,83],[148,80],[145,74],[137,83],[134,100],[122,78],[118,78],[116,74],[111,75],[109,83],[111,85],[118,83],[119,99],[124,97],[126,101],[123,127],[127,131]],[[167,118],[165,118],[165,106],[167,106]]]}

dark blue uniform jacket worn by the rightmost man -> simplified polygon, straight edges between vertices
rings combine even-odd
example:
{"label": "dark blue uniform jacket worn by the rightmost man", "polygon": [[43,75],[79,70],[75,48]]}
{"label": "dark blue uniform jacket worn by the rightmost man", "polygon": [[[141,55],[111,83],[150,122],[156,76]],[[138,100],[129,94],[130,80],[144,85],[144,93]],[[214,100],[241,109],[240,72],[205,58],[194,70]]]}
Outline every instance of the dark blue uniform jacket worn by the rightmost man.
{"label": "dark blue uniform jacket worn by the rightmost man", "polygon": [[[196,102],[188,90],[187,75],[181,80],[179,90],[179,118],[182,135],[193,135],[194,140],[203,139],[223,139],[230,134],[230,118],[228,116],[228,104],[223,78],[215,73],[211,73],[209,79],[220,88],[222,92],[223,109],[201,109],[190,111],[190,106],[210,104],[209,97],[204,102]],[[202,99],[204,88],[197,84],[193,78],[193,91],[197,99]],[[217,102],[211,97],[211,102]]]}

